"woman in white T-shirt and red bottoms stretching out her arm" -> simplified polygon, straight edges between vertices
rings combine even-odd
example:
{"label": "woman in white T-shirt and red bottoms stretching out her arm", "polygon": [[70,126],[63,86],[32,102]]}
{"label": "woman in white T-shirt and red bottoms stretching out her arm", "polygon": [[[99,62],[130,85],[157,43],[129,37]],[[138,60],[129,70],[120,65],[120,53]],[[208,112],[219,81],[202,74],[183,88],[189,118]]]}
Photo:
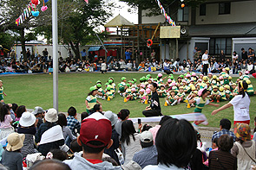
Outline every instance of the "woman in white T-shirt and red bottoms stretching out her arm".
{"label": "woman in white T-shirt and red bottoms stretching out her arm", "polygon": [[233,124],[236,123],[246,123],[250,124],[250,114],[249,107],[251,100],[246,92],[248,84],[246,81],[240,81],[238,85],[239,95],[235,96],[228,104],[223,105],[217,110],[213,110],[212,115],[217,114],[221,110],[226,110],[227,108],[233,106]]}

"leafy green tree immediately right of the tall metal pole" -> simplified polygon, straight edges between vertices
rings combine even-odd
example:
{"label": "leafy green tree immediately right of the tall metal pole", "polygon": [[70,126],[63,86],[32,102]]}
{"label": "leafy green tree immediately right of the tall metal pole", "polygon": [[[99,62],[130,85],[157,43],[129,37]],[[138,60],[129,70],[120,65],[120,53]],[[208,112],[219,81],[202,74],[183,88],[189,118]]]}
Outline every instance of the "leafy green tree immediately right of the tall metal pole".
{"label": "leafy green tree immediately right of the tall metal pole", "polygon": [[62,20],[62,43],[69,44],[75,52],[75,58],[80,58],[80,45],[86,45],[95,40],[95,28],[103,25],[109,16],[113,3],[103,0],[78,0],[80,6],[70,13],[70,16]]}

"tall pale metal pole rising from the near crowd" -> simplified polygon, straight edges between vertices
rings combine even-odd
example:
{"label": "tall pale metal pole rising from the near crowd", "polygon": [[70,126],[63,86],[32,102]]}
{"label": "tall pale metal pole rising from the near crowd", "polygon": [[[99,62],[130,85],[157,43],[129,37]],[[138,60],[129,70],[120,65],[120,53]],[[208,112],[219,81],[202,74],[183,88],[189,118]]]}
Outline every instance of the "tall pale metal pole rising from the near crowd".
{"label": "tall pale metal pole rising from the near crowd", "polygon": [[52,1],[53,107],[58,110],[58,25],[57,0]]}

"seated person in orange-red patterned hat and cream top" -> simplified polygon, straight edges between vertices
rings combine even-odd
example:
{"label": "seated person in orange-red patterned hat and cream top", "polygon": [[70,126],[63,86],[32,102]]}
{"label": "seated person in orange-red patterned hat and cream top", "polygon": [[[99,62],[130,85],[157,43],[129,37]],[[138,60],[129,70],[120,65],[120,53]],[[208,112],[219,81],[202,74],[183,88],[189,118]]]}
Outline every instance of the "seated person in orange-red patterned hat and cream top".
{"label": "seated person in orange-red patterned hat and cream top", "polygon": [[236,123],[233,127],[236,142],[231,154],[237,157],[237,169],[250,169],[256,159],[255,142],[251,140],[251,128],[246,123]]}

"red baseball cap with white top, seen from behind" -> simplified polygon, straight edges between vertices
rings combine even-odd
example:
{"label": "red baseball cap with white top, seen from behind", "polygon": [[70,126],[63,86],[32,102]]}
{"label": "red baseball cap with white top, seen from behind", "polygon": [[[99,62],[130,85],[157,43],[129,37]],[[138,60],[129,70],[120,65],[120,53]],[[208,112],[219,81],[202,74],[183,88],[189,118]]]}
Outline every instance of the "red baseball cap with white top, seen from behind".
{"label": "red baseball cap with white top, seen from behind", "polygon": [[[82,120],[80,140],[83,144],[91,148],[102,148],[108,145],[108,142],[111,139],[111,135],[111,122],[101,113],[95,112],[94,114]],[[104,144],[101,146],[95,146],[88,143],[91,141],[102,142]]]}

